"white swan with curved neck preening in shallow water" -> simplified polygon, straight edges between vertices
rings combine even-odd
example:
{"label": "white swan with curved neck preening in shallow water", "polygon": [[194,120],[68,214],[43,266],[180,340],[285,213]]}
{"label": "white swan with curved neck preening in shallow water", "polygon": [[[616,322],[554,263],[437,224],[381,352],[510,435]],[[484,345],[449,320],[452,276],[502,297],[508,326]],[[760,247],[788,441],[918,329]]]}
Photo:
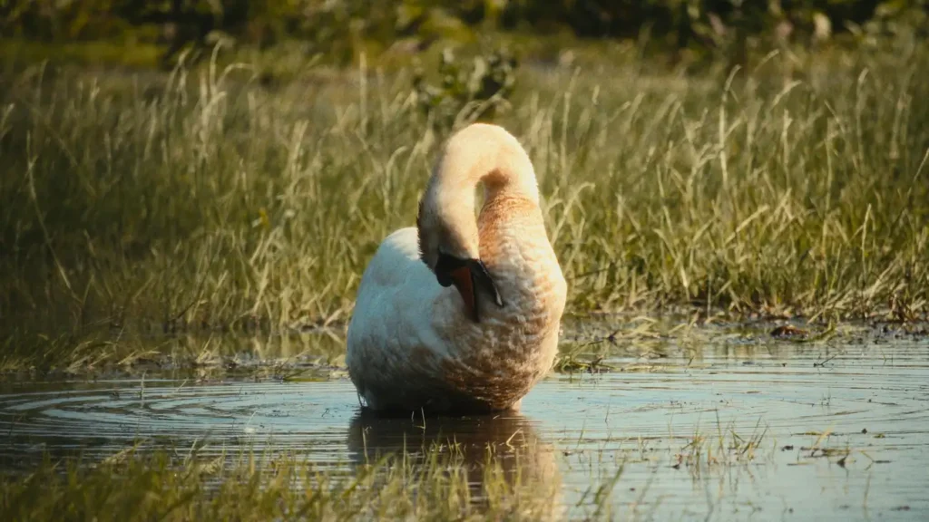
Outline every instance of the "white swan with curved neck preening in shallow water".
{"label": "white swan with curved neck preening in shallow water", "polygon": [[416,227],[387,236],[361,276],[346,363],[362,408],[517,411],[552,367],[567,289],[526,150],[501,126],[457,131]]}

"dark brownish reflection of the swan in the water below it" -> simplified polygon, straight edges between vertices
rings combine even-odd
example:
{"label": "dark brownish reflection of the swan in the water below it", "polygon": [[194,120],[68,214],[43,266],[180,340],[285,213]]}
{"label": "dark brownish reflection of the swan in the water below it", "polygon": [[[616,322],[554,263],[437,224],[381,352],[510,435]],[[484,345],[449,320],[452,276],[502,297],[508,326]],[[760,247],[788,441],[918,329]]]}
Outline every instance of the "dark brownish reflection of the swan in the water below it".
{"label": "dark brownish reflection of the swan in the water below it", "polygon": [[[425,471],[436,463],[465,470],[472,502],[486,505],[507,497],[554,518],[560,511],[561,480],[555,449],[518,413],[470,417],[379,417],[362,410],[348,428],[348,452],[358,464],[373,464],[394,454]],[[448,461],[438,460],[447,458]],[[502,479],[502,480],[501,480]]]}

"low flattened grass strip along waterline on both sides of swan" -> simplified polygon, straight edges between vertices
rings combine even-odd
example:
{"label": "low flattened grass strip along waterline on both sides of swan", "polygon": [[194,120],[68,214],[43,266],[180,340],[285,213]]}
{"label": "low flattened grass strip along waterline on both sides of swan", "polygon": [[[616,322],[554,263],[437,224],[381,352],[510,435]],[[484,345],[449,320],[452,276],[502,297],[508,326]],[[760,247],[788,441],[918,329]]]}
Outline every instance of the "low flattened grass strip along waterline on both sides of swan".
{"label": "low flattened grass strip along waterline on both sides of swan", "polygon": [[[770,350],[822,354],[814,366],[825,367],[849,346],[879,346],[901,340],[920,343],[927,337],[929,323],[924,321],[713,322],[697,317],[610,315],[567,321],[553,371],[579,376],[685,371],[702,364],[708,347],[713,352],[721,346],[729,346],[744,357]],[[328,381],[347,377],[345,342],[344,325],[247,335],[201,331],[140,334],[106,328],[57,337],[14,332],[0,349],[0,377],[21,382],[158,374],[190,379],[191,383],[228,378]],[[842,346],[845,348],[839,349]]]}

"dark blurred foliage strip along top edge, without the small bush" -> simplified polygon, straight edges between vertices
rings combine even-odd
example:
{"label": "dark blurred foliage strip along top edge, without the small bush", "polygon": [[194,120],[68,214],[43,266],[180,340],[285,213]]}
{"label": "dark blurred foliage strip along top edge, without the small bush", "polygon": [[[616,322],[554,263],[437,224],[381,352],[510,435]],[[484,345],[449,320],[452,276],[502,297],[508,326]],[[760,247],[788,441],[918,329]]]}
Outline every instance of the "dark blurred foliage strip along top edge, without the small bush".
{"label": "dark blurred foliage strip along top edge, without the small bush", "polygon": [[165,65],[224,41],[288,44],[336,65],[481,34],[648,40],[673,59],[919,39],[929,0],[0,0],[4,39],[155,46]]}

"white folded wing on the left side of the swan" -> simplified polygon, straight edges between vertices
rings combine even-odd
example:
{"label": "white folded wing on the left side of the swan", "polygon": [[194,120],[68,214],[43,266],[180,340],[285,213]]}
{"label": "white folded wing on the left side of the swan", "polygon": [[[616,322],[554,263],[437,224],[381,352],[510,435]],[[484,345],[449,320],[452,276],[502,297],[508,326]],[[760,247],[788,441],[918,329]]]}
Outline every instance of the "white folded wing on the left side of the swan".
{"label": "white folded wing on the left side of the swan", "polygon": [[443,290],[420,260],[416,228],[381,243],[361,276],[347,338],[349,374],[369,405],[385,388],[429,373],[423,364],[444,346],[432,323]]}

